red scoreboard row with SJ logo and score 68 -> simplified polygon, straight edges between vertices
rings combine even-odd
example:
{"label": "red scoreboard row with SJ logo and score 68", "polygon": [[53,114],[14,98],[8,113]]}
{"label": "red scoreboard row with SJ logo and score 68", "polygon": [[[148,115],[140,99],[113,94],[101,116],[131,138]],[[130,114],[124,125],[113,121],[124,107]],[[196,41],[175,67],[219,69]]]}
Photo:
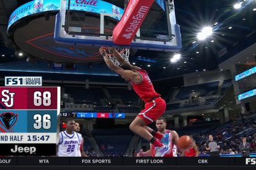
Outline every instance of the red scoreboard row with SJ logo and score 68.
{"label": "red scoreboard row with SJ logo and score 68", "polygon": [[57,87],[0,87],[0,109],[57,109]]}

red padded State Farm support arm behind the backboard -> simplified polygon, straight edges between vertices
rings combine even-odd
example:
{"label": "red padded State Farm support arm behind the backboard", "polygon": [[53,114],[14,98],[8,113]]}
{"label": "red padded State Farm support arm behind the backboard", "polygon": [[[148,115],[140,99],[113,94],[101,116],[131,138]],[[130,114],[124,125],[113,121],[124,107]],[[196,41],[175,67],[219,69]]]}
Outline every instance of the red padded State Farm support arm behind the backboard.
{"label": "red padded State Farm support arm behind the backboard", "polygon": [[130,45],[154,0],[130,0],[122,19],[113,30],[113,42]]}

